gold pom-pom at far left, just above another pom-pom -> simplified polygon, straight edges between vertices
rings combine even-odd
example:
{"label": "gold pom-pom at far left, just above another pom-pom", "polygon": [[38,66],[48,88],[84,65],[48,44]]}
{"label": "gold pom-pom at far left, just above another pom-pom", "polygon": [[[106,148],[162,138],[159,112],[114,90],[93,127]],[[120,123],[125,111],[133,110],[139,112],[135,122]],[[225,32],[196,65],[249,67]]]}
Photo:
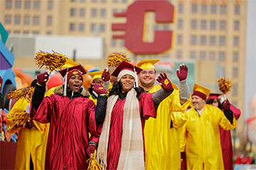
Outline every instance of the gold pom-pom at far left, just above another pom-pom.
{"label": "gold pom-pom at far left, just above another pom-pom", "polygon": [[11,91],[7,95],[7,98],[16,99],[16,100],[18,100],[20,98],[25,98],[26,100],[31,100],[33,91],[34,91],[34,88],[32,86],[24,87],[22,89],[17,89],[15,91]]}

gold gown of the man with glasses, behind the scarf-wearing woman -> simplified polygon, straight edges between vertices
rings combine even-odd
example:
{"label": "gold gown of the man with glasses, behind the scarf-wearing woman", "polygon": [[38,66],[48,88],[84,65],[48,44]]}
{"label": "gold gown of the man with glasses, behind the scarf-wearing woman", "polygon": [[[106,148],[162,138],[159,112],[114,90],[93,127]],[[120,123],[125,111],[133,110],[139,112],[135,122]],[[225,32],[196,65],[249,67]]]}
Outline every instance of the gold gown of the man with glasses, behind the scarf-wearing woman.
{"label": "gold gown of the man with glasses, behind the scarf-wearing woman", "polygon": [[[173,93],[159,104],[156,118],[146,120],[144,140],[146,149],[145,169],[181,169],[180,139],[178,128],[186,123],[183,111],[191,98],[181,106],[179,89],[173,84]],[[161,89],[155,85],[149,93]],[[173,128],[171,128],[171,121]]]}

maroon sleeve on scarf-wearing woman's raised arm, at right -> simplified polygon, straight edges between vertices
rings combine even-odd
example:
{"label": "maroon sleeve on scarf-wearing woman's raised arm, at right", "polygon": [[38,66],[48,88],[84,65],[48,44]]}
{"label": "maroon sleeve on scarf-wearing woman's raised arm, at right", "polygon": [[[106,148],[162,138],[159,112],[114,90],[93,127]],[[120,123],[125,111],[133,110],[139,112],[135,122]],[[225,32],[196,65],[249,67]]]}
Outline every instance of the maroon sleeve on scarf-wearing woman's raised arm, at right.
{"label": "maroon sleeve on scarf-wearing woman's raised arm, at right", "polygon": [[141,94],[141,99],[139,101],[142,115],[144,119],[148,120],[150,117],[156,118],[156,108],[154,106],[154,102],[152,99],[152,94],[146,94],[142,93]]}

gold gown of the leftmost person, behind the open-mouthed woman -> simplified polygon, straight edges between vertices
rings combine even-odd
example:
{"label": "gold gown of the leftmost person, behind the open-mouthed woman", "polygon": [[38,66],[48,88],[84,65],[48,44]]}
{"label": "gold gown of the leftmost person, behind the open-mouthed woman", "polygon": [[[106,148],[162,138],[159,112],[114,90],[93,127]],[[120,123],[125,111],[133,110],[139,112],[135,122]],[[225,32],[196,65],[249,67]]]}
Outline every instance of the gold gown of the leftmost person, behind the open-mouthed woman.
{"label": "gold gown of the leftmost person, behind the open-mouthed woman", "polygon": [[[29,101],[19,99],[14,104],[10,113],[12,113],[16,108],[26,110],[29,103]],[[10,113],[7,114],[10,132],[11,134],[14,134],[18,131],[15,169],[30,169],[30,156],[32,157],[34,169],[44,169],[44,153],[46,151],[43,150],[45,149],[43,148],[43,145],[47,141],[47,139],[44,138],[46,125],[38,123],[38,127],[40,127],[43,132],[38,130],[36,127],[31,129],[16,127],[14,121],[9,117]]]}

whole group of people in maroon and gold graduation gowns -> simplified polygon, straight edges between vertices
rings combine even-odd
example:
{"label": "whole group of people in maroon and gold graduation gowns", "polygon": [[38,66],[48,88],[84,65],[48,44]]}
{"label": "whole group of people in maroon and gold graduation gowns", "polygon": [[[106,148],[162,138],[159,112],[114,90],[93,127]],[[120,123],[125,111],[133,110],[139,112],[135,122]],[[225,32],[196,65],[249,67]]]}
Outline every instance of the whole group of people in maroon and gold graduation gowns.
{"label": "whole group of people in maroon and gold graduation gowns", "polygon": [[26,126],[6,114],[10,134],[18,132],[15,169],[87,169],[92,154],[104,169],[233,169],[230,130],[240,110],[200,84],[190,94],[185,64],[178,86],[156,76],[159,61],[90,72],[88,90],[80,64],[64,65],[63,85],[48,91],[48,72],[38,74],[31,101],[10,111],[29,113]]}

